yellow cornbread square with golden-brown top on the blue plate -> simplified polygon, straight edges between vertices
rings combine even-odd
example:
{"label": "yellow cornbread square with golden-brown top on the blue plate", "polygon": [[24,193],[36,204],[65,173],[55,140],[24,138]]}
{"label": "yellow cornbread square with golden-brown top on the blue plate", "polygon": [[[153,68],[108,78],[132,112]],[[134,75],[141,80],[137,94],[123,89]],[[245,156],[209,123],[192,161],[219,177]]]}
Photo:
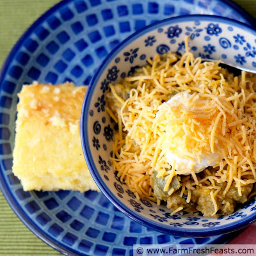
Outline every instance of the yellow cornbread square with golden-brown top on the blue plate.
{"label": "yellow cornbread square with golden-brown top on the blue plate", "polygon": [[72,83],[22,87],[13,173],[24,191],[99,191],[86,166],[80,139],[86,88]]}

